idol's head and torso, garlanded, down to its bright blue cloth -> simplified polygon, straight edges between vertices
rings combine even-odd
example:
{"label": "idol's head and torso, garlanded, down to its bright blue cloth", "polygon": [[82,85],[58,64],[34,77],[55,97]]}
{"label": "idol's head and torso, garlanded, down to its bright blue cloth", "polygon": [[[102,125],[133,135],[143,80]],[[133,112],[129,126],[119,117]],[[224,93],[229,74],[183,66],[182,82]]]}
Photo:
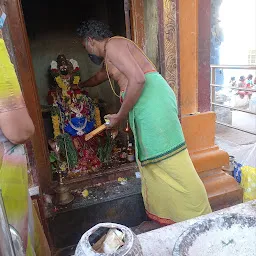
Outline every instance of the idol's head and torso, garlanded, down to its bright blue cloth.
{"label": "idol's head and torso, garlanded, down to its bright blue cloth", "polygon": [[[80,81],[80,72],[77,61],[67,60],[64,55],[59,55],[51,63],[51,73],[58,85],[55,106],[61,111],[61,121],[65,132],[71,136],[82,136],[94,129],[95,107],[91,98],[81,94],[80,90],[72,90],[73,84]],[[57,90],[57,91],[58,91]]]}

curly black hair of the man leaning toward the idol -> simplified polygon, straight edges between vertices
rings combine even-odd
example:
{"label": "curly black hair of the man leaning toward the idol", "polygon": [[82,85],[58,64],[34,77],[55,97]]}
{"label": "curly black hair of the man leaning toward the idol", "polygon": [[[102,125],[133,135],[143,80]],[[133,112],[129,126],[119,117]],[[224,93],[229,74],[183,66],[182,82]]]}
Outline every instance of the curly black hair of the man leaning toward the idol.
{"label": "curly black hair of the man leaning toward the idol", "polygon": [[88,37],[101,41],[105,38],[113,36],[109,26],[101,21],[89,20],[82,22],[81,26],[77,29],[80,37],[86,39]]}

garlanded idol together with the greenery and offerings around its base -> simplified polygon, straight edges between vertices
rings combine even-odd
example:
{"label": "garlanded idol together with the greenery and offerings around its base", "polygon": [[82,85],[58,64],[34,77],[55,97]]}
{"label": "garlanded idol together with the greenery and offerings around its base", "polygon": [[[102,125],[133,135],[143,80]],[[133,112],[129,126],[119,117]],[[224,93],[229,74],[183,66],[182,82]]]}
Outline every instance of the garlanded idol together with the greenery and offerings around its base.
{"label": "garlanded idol together with the greenery and offerings around its base", "polygon": [[134,161],[133,155],[127,158],[128,125],[116,139],[108,130],[85,139],[102,125],[104,116],[99,99],[92,99],[85,90],[73,89],[81,80],[78,62],[59,55],[50,64],[50,75],[54,81],[48,92],[53,137],[48,142],[53,176],[58,173],[69,181]]}

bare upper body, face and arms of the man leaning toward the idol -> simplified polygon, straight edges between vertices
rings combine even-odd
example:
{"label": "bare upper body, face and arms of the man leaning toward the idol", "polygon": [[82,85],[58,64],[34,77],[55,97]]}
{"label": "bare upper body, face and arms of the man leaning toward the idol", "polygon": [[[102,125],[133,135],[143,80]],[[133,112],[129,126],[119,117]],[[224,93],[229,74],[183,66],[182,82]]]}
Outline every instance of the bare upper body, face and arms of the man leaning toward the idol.
{"label": "bare upper body, face and arms of the man leaning toward the idol", "polygon": [[[117,114],[108,115],[109,127],[114,127],[125,119],[138,101],[145,84],[145,73],[156,71],[144,53],[130,40],[123,37],[95,40],[87,38],[83,45],[89,54],[104,58],[105,65],[90,79],[80,83],[80,87],[94,87],[114,79],[125,98]],[[97,57],[98,58],[98,57]],[[108,73],[107,73],[108,71]]]}

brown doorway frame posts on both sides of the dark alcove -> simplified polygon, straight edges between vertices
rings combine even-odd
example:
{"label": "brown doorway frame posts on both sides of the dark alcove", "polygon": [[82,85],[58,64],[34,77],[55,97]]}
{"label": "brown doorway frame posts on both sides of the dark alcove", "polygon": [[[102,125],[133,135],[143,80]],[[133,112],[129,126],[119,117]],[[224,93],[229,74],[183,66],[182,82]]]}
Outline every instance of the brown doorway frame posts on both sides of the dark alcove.
{"label": "brown doorway frame posts on both sides of the dark alcove", "polygon": [[[26,106],[35,125],[35,134],[31,138],[32,150],[30,150],[30,154],[33,154],[32,158],[35,159],[35,162],[30,164],[34,165],[31,168],[37,172],[40,188],[42,190],[47,190],[52,182],[48,144],[44,130],[21,0],[5,0],[5,9],[8,16],[9,43],[13,48],[16,71],[18,73]],[[130,22],[127,26],[131,27],[131,38],[142,49],[145,46],[143,11],[143,0],[130,0],[128,12],[130,14],[130,20],[126,19],[126,23],[127,21]]]}

